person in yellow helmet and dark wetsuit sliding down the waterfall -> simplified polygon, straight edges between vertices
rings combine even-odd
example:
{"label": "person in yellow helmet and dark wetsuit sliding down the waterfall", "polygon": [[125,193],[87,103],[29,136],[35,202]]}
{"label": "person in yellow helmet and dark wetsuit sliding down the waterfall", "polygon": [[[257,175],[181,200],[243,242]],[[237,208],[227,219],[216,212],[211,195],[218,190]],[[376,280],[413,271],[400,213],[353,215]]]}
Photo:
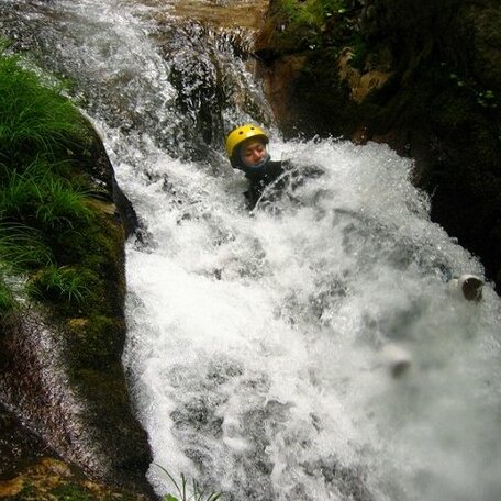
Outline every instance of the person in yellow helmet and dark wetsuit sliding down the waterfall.
{"label": "person in yellow helmet and dark wetsuit sliding down the waterfall", "polygon": [[242,170],[249,181],[249,188],[244,194],[250,210],[266,187],[277,182],[287,171],[287,160],[271,160],[268,143],[268,135],[252,123],[237,126],[226,136],[226,153],[232,167]]}

